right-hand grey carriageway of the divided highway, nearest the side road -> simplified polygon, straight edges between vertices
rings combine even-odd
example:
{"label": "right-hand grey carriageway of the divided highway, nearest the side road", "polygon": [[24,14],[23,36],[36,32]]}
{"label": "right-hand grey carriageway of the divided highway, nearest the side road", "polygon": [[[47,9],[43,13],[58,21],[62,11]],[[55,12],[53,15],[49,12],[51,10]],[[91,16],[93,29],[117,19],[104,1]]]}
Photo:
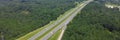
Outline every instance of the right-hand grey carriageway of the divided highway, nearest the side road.
{"label": "right-hand grey carriageway of the divided highway, nearest the side road", "polygon": [[78,14],[78,12],[80,12],[91,1],[93,1],[93,0],[85,1],[80,6],[76,7],[76,9],[73,12],[71,12],[71,15],[66,20],[64,20],[61,24],[59,24],[56,28],[54,28],[51,32],[46,34],[40,40],[47,40],[48,38],[50,38],[55,32],[57,32],[62,27],[65,27],[65,29],[66,29],[66,25]]}

